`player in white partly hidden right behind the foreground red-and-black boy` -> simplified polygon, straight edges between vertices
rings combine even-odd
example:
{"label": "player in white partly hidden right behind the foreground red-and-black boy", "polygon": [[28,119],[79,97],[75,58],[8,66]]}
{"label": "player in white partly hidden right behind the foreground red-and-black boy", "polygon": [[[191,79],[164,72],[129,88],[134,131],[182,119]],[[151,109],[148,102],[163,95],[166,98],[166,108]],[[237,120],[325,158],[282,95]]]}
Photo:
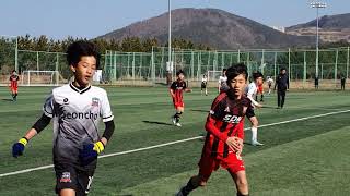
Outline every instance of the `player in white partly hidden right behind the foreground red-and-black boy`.
{"label": "player in white partly hidden right behind the foreground red-and-black boy", "polygon": [[[260,72],[253,74],[253,82],[248,85],[246,88],[246,96],[248,99],[250,99],[253,108],[261,108],[262,105],[254,100],[254,97],[256,97],[258,93],[258,86],[262,84],[264,75]],[[253,146],[262,146],[264,144],[258,142],[258,125],[259,121],[254,115],[249,118],[249,121],[252,123],[252,145]]]}

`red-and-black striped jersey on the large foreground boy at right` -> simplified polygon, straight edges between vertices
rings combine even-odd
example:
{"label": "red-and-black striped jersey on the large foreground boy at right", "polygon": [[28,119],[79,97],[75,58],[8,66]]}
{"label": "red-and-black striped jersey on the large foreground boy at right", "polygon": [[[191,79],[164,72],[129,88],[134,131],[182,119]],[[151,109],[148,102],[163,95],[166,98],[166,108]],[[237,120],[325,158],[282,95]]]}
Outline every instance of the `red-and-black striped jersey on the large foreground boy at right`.
{"label": "red-and-black striped jersey on the large foreground boy at right", "polygon": [[205,149],[211,156],[226,157],[230,149],[226,139],[232,136],[244,139],[244,117],[255,115],[247,97],[231,99],[226,93],[220,94],[211,106],[207,118]]}

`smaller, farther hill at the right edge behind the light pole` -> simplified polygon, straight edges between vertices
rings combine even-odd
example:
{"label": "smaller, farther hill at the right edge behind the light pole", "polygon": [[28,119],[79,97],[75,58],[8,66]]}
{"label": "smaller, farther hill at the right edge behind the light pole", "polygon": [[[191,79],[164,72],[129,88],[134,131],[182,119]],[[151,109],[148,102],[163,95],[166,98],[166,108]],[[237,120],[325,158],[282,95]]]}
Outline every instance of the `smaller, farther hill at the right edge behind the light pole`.
{"label": "smaller, farther hill at the right edge behind the light pole", "polygon": [[[290,26],[285,33],[290,35],[315,36],[317,21]],[[347,41],[350,42],[350,13],[338,15],[325,15],[318,20],[319,38],[324,42]]]}

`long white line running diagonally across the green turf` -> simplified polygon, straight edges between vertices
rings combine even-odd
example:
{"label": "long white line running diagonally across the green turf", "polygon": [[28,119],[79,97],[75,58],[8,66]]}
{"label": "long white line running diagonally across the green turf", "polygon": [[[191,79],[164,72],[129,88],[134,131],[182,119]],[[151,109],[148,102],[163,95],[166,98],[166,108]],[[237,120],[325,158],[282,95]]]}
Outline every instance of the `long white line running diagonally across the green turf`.
{"label": "long white line running diagonally across the green turf", "polygon": [[[279,125],[279,124],[285,124],[285,123],[291,123],[291,122],[296,122],[296,121],[305,121],[305,120],[308,120],[308,119],[316,119],[316,118],[320,118],[320,117],[335,115],[335,114],[347,113],[347,112],[350,112],[350,110],[335,111],[335,112],[323,113],[323,114],[317,114],[317,115],[310,115],[310,117],[299,118],[299,119],[293,119],[293,120],[288,120],[288,121],[281,121],[281,122],[277,122],[277,123],[264,124],[264,125],[260,125],[259,127],[275,126],[275,125]],[[250,127],[246,127],[244,130],[247,131],[249,128]],[[174,144],[178,144],[178,143],[185,143],[185,142],[189,142],[189,140],[195,140],[195,139],[199,139],[199,138],[202,138],[202,137],[203,136],[190,137],[190,138],[186,138],[186,139],[174,140],[174,142],[164,143],[164,144],[154,145],[154,146],[149,146],[149,147],[144,147],[144,148],[137,148],[137,149],[131,149],[131,150],[126,150],[126,151],[107,154],[107,155],[100,156],[98,158],[102,159],[102,158],[106,158],[106,157],[115,157],[115,156],[120,156],[120,155],[138,152],[138,151],[144,151],[144,150],[160,148],[160,147],[164,147],[164,146],[170,146],[170,145],[174,145]],[[9,172],[9,173],[1,173],[0,177],[10,176],[10,175],[18,175],[18,174],[21,174],[21,173],[28,173],[28,172],[37,171],[37,170],[45,170],[45,169],[48,169],[48,168],[54,168],[54,164],[48,164],[48,166],[43,166],[43,167],[37,167],[37,168],[30,168],[30,169],[25,169],[25,170],[19,170],[19,171],[14,171],[14,172]]]}

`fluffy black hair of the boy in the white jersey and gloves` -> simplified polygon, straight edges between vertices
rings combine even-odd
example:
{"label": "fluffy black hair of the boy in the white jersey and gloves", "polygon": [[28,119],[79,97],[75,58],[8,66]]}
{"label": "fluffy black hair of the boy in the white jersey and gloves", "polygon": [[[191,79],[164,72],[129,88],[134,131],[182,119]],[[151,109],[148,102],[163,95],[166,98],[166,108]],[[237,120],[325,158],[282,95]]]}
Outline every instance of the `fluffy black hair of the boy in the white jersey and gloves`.
{"label": "fluffy black hair of the boy in the white jersey and gloves", "polygon": [[69,45],[67,49],[67,61],[69,65],[77,65],[84,56],[93,56],[96,59],[96,69],[100,68],[100,53],[96,46],[86,40],[78,40]]}

